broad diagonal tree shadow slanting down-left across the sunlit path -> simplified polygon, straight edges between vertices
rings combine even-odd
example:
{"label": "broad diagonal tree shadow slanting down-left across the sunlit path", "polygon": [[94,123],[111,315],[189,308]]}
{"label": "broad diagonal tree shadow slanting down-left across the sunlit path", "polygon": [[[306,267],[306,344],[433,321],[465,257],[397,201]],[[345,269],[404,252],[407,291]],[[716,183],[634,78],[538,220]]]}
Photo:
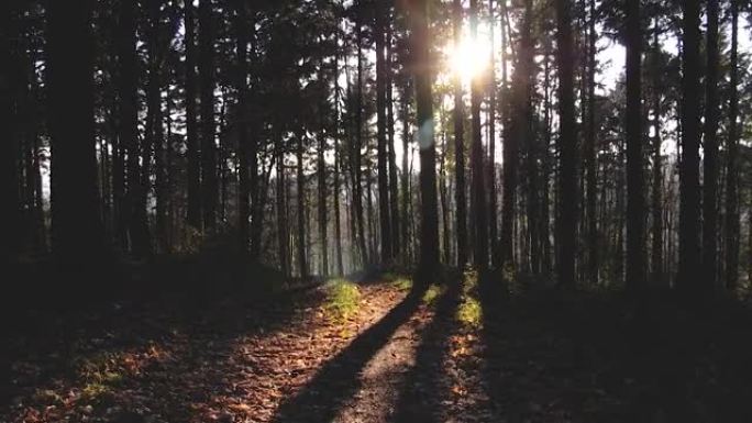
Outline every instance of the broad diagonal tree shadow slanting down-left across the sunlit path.
{"label": "broad diagonal tree shadow slanting down-left across the sunlit path", "polygon": [[381,320],[329,360],[301,390],[285,400],[274,422],[331,422],[361,386],[360,374],[391,335],[416,312],[425,289],[414,288]]}

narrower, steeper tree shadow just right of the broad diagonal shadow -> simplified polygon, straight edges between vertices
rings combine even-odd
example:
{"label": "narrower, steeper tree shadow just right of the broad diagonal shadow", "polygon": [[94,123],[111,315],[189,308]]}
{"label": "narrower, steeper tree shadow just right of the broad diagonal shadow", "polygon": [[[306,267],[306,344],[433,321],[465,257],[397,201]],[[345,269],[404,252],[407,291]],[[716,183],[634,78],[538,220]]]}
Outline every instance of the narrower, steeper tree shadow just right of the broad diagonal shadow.
{"label": "narrower, steeper tree shadow just right of the broad diagonal shadow", "polygon": [[436,299],[431,323],[419,333],[416,365],[406,377],[395,409],[395,422],[443,421],[441,403],[451,387],[443,383],[443,365],[450,354],[450,336],[455,332],[455,313],[462,287],[452,282]]}

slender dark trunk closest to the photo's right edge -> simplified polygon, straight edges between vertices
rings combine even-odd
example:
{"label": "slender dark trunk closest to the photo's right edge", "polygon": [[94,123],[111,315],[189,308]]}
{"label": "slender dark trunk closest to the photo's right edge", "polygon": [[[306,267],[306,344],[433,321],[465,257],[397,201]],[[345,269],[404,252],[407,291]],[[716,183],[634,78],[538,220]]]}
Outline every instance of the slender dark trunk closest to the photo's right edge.
{"label": "slender dark trunk closest to the photo's right edge", "polygon": [[[739,3],[731,0],[731,76],[729,90],[729,146],[726,171],[726,289],[737,292],[739,280]],[[752,233],[752,226],[750,226]]]}

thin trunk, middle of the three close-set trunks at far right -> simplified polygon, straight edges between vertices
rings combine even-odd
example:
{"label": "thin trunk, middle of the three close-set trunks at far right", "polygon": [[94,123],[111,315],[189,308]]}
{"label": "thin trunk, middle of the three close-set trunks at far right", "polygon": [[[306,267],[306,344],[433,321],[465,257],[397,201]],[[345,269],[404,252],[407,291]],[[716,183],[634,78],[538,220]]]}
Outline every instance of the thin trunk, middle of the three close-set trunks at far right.
{"label": "thin trunk, middle of the three close-set trunks at far right", "polygon": [[718,268],[718,0],[707,3],[705,136],[703,140],[703,267],[705,282],[716,288]]}

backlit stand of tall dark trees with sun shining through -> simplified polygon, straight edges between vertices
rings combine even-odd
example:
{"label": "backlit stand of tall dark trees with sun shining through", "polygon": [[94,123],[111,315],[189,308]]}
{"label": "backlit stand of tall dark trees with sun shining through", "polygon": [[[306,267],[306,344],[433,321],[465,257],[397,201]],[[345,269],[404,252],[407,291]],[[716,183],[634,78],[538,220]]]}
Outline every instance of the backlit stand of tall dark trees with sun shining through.
{"label": "backlit stand of tall dark trees with sun shining through", "polygon": [[749,289],[748,0],[1,8],[5,261]]}

